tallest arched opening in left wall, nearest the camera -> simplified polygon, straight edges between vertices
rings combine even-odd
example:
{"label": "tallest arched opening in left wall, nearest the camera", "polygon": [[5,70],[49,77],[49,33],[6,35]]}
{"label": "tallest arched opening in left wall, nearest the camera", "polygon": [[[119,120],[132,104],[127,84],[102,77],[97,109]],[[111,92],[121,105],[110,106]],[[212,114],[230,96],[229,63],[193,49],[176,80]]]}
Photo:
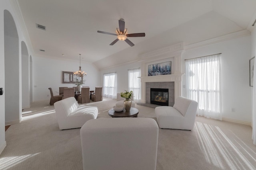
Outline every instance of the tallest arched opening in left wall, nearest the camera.
{"label": "tallest arched opening in left wall, nearest the camera", "polygon": [[20,122],[19,37],[12,14],[4,10],[5,123]]}

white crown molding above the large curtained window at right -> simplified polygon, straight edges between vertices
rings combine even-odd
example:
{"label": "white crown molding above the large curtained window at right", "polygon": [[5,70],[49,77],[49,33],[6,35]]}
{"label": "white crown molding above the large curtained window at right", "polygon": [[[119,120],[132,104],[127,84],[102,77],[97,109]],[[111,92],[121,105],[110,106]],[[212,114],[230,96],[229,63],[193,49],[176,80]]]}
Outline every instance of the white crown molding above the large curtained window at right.
{"label": "white crown molding above the large curtained window at right", "polygon": [[206,46],[206,45],[212,45],[212,44],[215,44],[215,43],[228,41],[230,39],[244,37],[244,36],[250,35],[250,34],[251,34],[250,31],[248,31],[247,29],[244,29],[244,30],[241,30],[241,31],[236,31],[234,33],[229,33],[229,34],[226,34],[226,35],[222,35],[222,36],[219,36],[219,37],[207,39],[207,40],[200,41],[200,42],[197,42],[197,43],[192,43],[192,44],[186,45],[184,49],[185,50],[195,49],[195,48],[203,47],[203,46]]}

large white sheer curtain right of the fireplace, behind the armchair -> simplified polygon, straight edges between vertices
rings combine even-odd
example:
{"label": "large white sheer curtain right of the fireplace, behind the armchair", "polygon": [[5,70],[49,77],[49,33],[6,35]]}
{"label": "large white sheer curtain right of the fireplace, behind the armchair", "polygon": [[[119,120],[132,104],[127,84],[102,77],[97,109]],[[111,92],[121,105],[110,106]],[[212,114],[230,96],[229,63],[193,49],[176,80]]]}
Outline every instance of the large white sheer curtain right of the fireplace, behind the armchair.
{"label": "large white sheer curtain right of the fireplace, behind the armchair", "polygon": [[186,87],[198,115],[222,120],[220,54],[186,60]]}

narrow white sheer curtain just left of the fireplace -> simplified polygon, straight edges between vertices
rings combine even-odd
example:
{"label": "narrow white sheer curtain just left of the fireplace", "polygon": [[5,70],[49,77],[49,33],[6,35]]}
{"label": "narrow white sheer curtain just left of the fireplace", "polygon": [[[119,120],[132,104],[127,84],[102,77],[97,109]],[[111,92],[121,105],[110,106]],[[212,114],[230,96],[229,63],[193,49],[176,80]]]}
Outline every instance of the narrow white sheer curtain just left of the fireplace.
{"label": "narrow white sheer curtain just left of the fireplace", "polygon": [[141,99],[141,85],[140,85],[140,68],[128,70],[128,88],[133,91],[134,102],[139,102]]}

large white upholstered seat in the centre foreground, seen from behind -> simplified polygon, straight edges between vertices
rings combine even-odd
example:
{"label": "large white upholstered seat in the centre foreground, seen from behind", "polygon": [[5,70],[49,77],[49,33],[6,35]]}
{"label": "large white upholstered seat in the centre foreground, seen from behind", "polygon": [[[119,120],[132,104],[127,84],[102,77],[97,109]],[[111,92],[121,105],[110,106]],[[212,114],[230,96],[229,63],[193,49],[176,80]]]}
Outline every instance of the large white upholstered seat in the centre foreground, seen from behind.
{"label": "large white upholstered seat in the centre foreground, seen from behind", "polygon": [[156,169],[158,125],[154,119],[92,119],[80,133],[84,170]]}

